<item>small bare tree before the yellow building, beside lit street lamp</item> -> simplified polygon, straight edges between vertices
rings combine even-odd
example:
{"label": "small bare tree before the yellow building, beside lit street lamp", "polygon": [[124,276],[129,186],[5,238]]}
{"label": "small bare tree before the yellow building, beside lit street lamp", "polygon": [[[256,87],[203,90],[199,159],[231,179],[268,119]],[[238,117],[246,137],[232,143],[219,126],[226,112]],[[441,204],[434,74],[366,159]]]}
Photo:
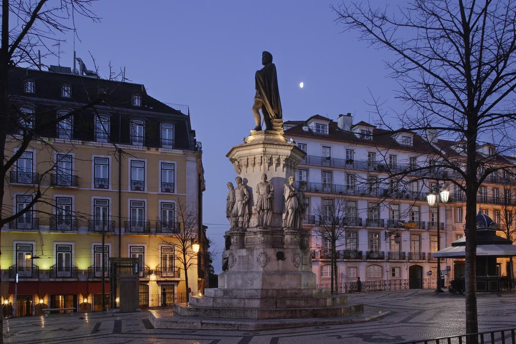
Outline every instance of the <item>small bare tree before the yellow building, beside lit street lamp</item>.
{"label": "small bare tree before the yellow building, beside lit street lamp", "polygon": [[192,244],[198,240],[198,217],[195,210],[188,207],[184,201],[176,203],[175,214],[177,219],[175,228],[167,238],[163,238],[163,242],[168,247],[174,248],[175,259],[185,274],[186,302],[189,302],[188,270],[196,266],[198,261],[197,253],[192,248]]}

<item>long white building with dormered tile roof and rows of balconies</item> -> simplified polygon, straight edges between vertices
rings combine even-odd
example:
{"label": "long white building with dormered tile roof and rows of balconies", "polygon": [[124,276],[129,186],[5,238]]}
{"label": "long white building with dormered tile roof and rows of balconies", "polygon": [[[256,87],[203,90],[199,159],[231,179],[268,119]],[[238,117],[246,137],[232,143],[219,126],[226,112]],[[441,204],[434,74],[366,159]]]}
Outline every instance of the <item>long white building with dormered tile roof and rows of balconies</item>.
{"label": "long white building with dormered tile roof and rows of balconies", "polygon": [[[438,250],[438,214],[437,207],[428,205],[426,195],[429,187],[436,187],[436,178],[439,173],[442,176],[443,170],[436,170],[434,175],[425,171],[424,178],[423,174],[404,176],[401,184],[389,175],[427,166],[436,147],[449,149],[453,142],[440,140],[437,132],[428,132],[423,138],[411,132],[379,129],[365,122],[353,124],[349,113],[341,114],[337,122],[319,115],[307,121],[287,121],[284,128],[285,137],[293,138],[307,153],[298,166],[296,183],[299,186],[300,181],[307,182],[309,207],[305,226],[312,230],[317,283],[330,283],[331,270],[330,243],[321,240],[315,229],[321,214],[331,212],[344,201],[345,234],[337,243],[338,283],[356,282],[360,276],[362,281],[398,279],[435,285],[437,258],[432,258],[431,253]],[[499,183],[499,179],[493,182]],[[439,184],[450,189],[442,181]],[[496,189],[486,187],[490,191]],[[440,206],[441,249],[464,234],[461,194],[453,188],[449,191],[450,202]],[[499,195],[480,195],[481,208],[488,211],[491,206],[486,204],[497,204]],[[495,213],[490,216],[500,223]],[[399,244],[395,242],[396,234]],[[452,278],[454,265],[461,274],[463,262],[441,260],[441,270],[450,269]],[[501,266],[500,273],[504,271],[506,267]]]}

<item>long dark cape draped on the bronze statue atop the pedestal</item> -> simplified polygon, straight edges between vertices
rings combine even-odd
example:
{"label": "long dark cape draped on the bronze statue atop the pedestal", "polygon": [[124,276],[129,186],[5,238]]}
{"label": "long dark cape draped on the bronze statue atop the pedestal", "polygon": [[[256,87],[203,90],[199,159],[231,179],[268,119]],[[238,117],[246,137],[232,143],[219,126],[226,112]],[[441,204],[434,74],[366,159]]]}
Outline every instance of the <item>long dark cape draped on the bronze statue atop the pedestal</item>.
{"label": "long dark cape draped on the bronze statue atop the pedestal", "polygon": [[256,71],[254,79],[256,90],[261,96],[263,107],[268,112],[270,119],[282,119],[283,114],[281,111],[276,65],[274,63],[267,64],[261,70]]}

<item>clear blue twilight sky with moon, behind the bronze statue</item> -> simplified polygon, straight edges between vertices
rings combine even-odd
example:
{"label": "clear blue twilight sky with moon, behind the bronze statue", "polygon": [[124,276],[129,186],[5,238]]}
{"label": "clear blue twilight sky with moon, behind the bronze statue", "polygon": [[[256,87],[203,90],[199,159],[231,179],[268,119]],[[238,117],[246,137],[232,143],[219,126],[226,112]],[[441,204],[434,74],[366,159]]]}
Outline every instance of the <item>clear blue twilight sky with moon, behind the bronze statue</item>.
{"label": "clear blue twilight sky with moon, behind the bronze statue", "polygon": [[[386,77],[383,63],[392,55],[359,42],[356,32],[341,33],[330,2],[110,0],[93,6],[101,23],[76,22],[77,57],[88,69],[93,69],[90,52],[101,75],[111,61],[156,99],[190,106],[204,149],[203,222],[215,242],[216,272],[229,229],[226,183],[235,177],[225,154],[254,127],[254,72],[262,67],[263,50],[272,53],[278,70],[285,121],[316,113],[336,120],[351,112],[354,123],[373,122],[377,118],[365,103],[369,90],[387,101],[385,107],[401,107],[392,91],[397,84]],[[66,39],[60,61],[71,67],[73,36]],[[57,64],[57,58],[44,63]]]}

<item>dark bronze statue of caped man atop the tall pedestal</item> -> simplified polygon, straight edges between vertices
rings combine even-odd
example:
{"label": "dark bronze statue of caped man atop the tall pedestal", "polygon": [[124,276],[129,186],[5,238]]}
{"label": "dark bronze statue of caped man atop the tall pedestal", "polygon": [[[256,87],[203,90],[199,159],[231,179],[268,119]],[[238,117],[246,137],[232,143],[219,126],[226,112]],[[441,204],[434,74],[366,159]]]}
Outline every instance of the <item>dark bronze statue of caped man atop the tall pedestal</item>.
{"label": "dark bronze statue of caped man atop the tall pedestal", "polygon": [[264,68],[254,74],[256,95],[252,107],[254,130],[262,130],[260,109],[262,109],[263,120],[266,130],[283,130],[283,115],[281,111],[280,92],[278,89],[278,75],[276,65],[272,63],[272,54],[262,53],[262,64]]}

